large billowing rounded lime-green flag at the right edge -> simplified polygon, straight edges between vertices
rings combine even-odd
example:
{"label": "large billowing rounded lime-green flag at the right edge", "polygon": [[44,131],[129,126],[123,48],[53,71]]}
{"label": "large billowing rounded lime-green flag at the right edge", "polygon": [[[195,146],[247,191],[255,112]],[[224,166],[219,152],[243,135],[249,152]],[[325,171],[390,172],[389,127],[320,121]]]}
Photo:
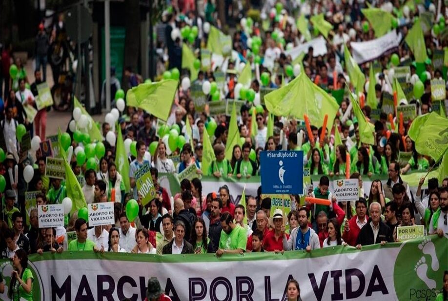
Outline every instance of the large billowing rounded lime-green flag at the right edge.
{"label": "large billowing rounded lime-green flag at the right edge", "polygon": [[419,116],[412,121],[408,135],[419,154],[439,161],[448,145],[448,119],[436,112]]}

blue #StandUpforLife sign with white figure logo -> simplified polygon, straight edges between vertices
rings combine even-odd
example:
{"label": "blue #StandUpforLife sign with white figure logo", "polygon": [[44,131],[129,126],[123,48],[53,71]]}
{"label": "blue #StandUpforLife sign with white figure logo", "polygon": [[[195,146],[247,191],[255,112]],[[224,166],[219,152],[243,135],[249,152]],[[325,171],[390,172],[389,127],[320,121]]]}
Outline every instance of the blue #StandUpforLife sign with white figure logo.
{"label": "blue #StandUpforLife sign with white figure logo", "polygon": [[260,161],[262,193],[303,193],[303,151],[265,151]]}

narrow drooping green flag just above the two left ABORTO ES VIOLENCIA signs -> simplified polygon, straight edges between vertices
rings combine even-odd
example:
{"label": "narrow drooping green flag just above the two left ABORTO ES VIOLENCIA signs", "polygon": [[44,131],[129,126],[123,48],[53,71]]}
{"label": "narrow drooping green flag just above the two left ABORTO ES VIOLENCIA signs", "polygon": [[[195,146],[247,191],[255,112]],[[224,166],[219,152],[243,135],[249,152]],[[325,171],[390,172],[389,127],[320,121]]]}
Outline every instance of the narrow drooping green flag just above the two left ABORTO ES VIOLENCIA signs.
{"label": "narrow drooping green flag just above the two left ABORTO ES VIOLENCIA signs", "polygon": [[61,129],[59,129],[58,132],[58,140],[59,140],[59,154],[64,161],[65,189],[67,197],[70,198],[73,203],[72,210],[70,211],[70,213],[73,214],[75,211],[78,211],[83,207],[87,207],[87,203],[85,201],[84,194],[82,193],[80,182],[78,181],[78,179],[76,179],[75,173],[73,172],[70,163],[67,161],[65,151],[61,146]]}

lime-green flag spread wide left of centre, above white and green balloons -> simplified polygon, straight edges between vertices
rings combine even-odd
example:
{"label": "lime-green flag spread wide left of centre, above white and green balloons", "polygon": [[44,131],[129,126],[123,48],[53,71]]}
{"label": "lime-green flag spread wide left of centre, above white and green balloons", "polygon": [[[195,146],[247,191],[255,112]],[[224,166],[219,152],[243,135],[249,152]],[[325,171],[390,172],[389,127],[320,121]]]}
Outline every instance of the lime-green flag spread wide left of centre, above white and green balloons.
{"label": "lime-green flag spread wide left of centre, above white and green balloons", "polygon": [[141,83],[137,87],[127,90],[127,105],[139,107],[166,121],[171,113],[177,86],[177,80]]}

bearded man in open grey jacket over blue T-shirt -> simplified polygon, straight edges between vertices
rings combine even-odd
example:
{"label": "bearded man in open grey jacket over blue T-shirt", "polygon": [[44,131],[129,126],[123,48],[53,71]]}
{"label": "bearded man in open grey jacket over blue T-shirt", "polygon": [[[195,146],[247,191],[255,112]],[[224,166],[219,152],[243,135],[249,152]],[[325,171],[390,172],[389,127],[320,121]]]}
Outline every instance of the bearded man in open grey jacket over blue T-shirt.
{"label": "bearded man in open grey jacket over blue T-shirt", "polygon": [[283,234],[283,248],[285,251],[290,250],[316,250],[321,248],[319,237],[316,232],[308,227],[308,209],[302,207],[299,209],[299,227],[294,228],[289,236]]}

